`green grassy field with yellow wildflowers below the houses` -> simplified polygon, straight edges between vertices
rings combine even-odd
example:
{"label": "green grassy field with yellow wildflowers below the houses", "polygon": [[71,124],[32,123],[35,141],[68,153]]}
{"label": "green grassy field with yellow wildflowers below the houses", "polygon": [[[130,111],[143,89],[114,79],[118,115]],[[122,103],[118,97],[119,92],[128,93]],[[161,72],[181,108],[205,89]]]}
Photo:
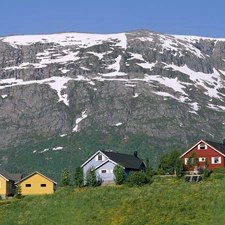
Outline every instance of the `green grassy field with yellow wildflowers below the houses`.
{"label": "green grassy field with yellow wildflowers below the houses", "polygon": [[155,178],[143,187],[65,187],[0,200],[0,224],[224,225],[224,199],[225,178],[215,174],[198,184]]}

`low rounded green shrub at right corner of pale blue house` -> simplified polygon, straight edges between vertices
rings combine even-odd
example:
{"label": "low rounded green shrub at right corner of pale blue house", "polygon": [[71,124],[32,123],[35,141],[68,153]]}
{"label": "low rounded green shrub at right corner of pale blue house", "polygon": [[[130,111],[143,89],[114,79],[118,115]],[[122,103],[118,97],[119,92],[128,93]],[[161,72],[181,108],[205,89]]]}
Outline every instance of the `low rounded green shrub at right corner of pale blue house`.
{"label": "low rounded green shrub at right corner of pale blue house", "polygon": [[134,171],[126,178],[126,184],[128,186],[142,186],[150,183],[151,179],[142,171]]}

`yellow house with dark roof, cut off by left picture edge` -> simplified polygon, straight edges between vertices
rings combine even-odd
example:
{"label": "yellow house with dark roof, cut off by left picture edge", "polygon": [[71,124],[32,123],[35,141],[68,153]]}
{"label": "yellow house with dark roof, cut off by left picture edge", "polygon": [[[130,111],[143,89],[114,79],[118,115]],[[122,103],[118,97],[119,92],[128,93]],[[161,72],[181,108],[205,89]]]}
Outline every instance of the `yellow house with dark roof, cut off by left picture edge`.
{"label": "yellow house with dark roof, cut off by left picture edge", "polygon": [[1,198],[7,198],[13,196],[16,193],[15,182],[21,179],[21,174],[12,174],[8,171],[0,168],[0,196]]}

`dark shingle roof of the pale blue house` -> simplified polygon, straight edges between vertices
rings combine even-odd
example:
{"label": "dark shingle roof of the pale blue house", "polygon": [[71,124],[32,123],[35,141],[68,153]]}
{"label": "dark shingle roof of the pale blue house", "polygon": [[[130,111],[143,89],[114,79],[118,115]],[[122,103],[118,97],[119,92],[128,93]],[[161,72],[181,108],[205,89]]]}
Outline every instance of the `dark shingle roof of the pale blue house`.
{"label": "dark shingle roof of the pale blue house", "polygon": [[134,155],[128,155],[123,153],[117,153],[117,152],[108,152],[108,151],[101,151],[103,154],[105,154],[107,157],[109,157],[112,161],[118,163],[119,165],[127,168],[127,169],[140,169],[141,164],[143,163],[143,160],[134,156]]}

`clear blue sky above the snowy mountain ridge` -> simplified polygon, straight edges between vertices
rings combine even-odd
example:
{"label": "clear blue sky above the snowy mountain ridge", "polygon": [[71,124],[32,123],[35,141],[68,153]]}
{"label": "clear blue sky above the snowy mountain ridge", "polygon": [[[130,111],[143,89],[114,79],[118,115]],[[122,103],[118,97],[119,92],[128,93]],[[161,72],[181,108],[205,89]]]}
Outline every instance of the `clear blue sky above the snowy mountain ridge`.
{"label": "clear blue sky above the snowy mountain ridge", "polygon": [[57,32],[225,38],[224,0],[1,0],[0,36]]}

